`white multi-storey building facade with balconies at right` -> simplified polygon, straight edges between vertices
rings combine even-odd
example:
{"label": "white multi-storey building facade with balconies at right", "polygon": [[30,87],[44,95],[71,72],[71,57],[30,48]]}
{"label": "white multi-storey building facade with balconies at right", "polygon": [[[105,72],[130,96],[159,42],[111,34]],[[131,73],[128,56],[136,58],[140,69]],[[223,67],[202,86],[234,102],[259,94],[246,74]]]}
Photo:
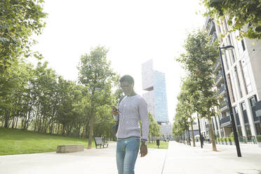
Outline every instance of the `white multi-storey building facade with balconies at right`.
{"label": "white multi-storey building facade with balconies at right", "polygon": [[[218,37],[221,47],[234,46],[233,50],[222,51],[222,60],[237,133],[240,138],[250,141],[256,135],[261,135],[261,118],[255,114],[255,103],[261,100],[261,43],[247,38],[236,39],[239,32],[228,32],[230,28],[226,18],[219,22],[207,18],[205,29],[212,36],[211,43]],[[220,137],[229,137],[232,133],[232,122],[220,61],[213,67],[213,72],[215,91],[223,98],[217,108],[220,115],[212,118],[213,131]],[[201,128],[203,134],[208,136],[207,120],[201,119]]]}

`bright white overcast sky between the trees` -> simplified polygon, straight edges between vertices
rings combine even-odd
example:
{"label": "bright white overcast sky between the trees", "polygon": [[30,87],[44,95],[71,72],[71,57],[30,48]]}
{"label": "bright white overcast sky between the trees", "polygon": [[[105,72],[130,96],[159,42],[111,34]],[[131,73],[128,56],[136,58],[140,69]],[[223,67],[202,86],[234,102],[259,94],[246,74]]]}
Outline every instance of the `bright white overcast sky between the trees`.
{"label": "bright white overcast sky between the trees", "polygon": [[[48,13],[34,50],[67,80],[77,81],[81,55],[95,46],[109,48],[114,72],[130,74],[142,95],[142,63],[166,74],[168,116],[173,122],[180,79],[185,71],[175,61],[186,36],[205,22],[199,0],[45,0]],[[198,15],[196,14],[199,13]],[[35,62],[35,60],[30,60]]]}

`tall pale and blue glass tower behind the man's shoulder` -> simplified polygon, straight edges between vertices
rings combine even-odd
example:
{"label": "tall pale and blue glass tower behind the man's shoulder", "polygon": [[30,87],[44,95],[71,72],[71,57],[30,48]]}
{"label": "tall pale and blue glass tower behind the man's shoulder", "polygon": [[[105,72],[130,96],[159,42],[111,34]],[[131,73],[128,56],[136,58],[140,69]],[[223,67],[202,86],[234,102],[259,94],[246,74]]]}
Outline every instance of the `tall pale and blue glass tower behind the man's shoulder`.
{"label": "tall pale and blue glass tower behind the man's shoulder", "polygon": [[149,112],[159,123],[168,123],[168,102],[165,74],[153,69],[153,61],[142,64],[142,89],[148,103]]}

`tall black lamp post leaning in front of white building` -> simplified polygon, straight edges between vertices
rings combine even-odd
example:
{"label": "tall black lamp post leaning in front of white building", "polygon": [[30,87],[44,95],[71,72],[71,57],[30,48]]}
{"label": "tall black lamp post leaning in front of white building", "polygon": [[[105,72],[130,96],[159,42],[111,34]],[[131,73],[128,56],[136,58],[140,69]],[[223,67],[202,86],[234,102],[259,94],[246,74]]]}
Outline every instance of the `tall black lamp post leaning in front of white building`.
{"label": "tall black lamp post leaning in front of white building", "polygon": [[224,47],[219,46],[218,50],[220,52],[220,62],[222,65],[222,72],[223,72],[223,77],[224,77],[224,81],[225,81],[225,88],[226,88],[226,93],[227,93],[227,103],[229,105],[230,118],[231,118],[231,122],[232,122],[233,133],[234,133],[234,141],[235,141],[235,145],[236,145],[236,152],[237,152],[237,156],[241,157],[241,151],[240,151],[240,147],[239,147],[239,138],[238,138],[237,132],[236,132],[236,123],[235,123],[235,119],[234,119],[234,115],[233,115],[233,110],[232,110],[232,105],[231,105],[231,100],[230,100],[230,95],[229,95],[229,89],[227,86],[227,79],[226,79],[226,75],[225,75],[225,67],[224,67],[223,60],[222,60],[221,49],[232,50],[232,49],[234,49],[234,46],[224,46]]}

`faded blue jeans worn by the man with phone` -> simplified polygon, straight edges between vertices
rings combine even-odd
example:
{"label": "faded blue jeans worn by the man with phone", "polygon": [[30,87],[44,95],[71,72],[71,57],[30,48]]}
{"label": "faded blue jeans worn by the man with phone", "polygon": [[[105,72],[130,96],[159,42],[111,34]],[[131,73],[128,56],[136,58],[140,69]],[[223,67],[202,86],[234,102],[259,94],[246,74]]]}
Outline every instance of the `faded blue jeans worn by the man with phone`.
{"label": "faded blue jeans worn by the man with phone", "polygon": [[134,174],[134,167],[139,149],[139,138],[117,140],[116,163],[119,174]]}

